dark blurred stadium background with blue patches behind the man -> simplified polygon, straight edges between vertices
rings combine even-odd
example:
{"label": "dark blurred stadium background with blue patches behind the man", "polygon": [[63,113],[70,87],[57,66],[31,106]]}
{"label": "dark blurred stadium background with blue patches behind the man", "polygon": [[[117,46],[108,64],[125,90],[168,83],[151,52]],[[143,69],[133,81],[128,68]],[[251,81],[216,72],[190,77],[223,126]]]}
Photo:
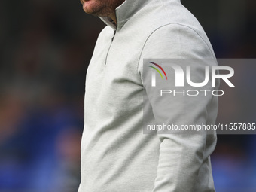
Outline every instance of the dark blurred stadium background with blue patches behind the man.
{"label": "dark blurred stadium background with blue patches behind the man", "polygon": [[[218,58],[256,58],[254,0],[182,0]],[[0,192],[74,192],[80,182],[84,78],[105,26],[79,0],[0,2]],[[218,122],[256,123],[255,66],[236,66]],[[246,86],[245,86],[246,85]],[[220,135],[217,192],[256,191],[256,136]]]}

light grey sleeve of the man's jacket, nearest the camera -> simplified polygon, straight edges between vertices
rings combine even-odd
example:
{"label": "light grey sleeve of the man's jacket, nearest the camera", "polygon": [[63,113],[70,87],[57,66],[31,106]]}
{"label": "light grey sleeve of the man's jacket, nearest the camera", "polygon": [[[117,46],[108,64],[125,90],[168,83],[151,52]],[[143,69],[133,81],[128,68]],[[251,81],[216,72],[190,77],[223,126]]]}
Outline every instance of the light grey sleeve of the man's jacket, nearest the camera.
{"label": "light grey sleeve of the man's jacket, nearest the camera", "polygon": [[[139,74],[143,76],[143,59],[206,58],[215,59],[207,38],[203,40],[187,26],[169,24],[153,32],[145,42],[139,61]],[[194,77],[204,77],[203,67],[197,66]],[[218,98],[212,94],[163,97],[154,93],[154,87],[145,81],[147,78],[151,78],[151,75],[144,75],[142,82],[157,123],[179,127],[215,123]],[[214,87],[208,89],[212,90]],[[175,90],[175,86],[169,87],[169,90]],[[209,183],[212,176],[209,155],[215,148],[215,133],[189,134],[186,130],[179,130],[174,134],[158,133],[158,138],[160,154],[153,192],[195,192],[202,184],[213,186]]]}

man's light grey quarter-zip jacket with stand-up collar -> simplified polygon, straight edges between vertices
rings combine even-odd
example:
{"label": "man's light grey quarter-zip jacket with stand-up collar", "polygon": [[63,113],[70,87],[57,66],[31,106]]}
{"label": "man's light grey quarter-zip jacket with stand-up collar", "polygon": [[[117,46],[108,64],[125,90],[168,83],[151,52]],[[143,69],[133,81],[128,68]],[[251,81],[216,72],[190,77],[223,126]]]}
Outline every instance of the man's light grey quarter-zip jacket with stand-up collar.
{"label": "man's light grey quarter-zip jacket with stand-up collar", "polygon": [[[215,191],[215,134],[142,132],[143,59],[215,59],[200,23],[179,0],[126,0],[116,15],[117,26],[102,18],[87,69],[78,192]],[[215,123],[217,98],[163,102],[164,113],[157,99],[145,104],[152,120]]]}

